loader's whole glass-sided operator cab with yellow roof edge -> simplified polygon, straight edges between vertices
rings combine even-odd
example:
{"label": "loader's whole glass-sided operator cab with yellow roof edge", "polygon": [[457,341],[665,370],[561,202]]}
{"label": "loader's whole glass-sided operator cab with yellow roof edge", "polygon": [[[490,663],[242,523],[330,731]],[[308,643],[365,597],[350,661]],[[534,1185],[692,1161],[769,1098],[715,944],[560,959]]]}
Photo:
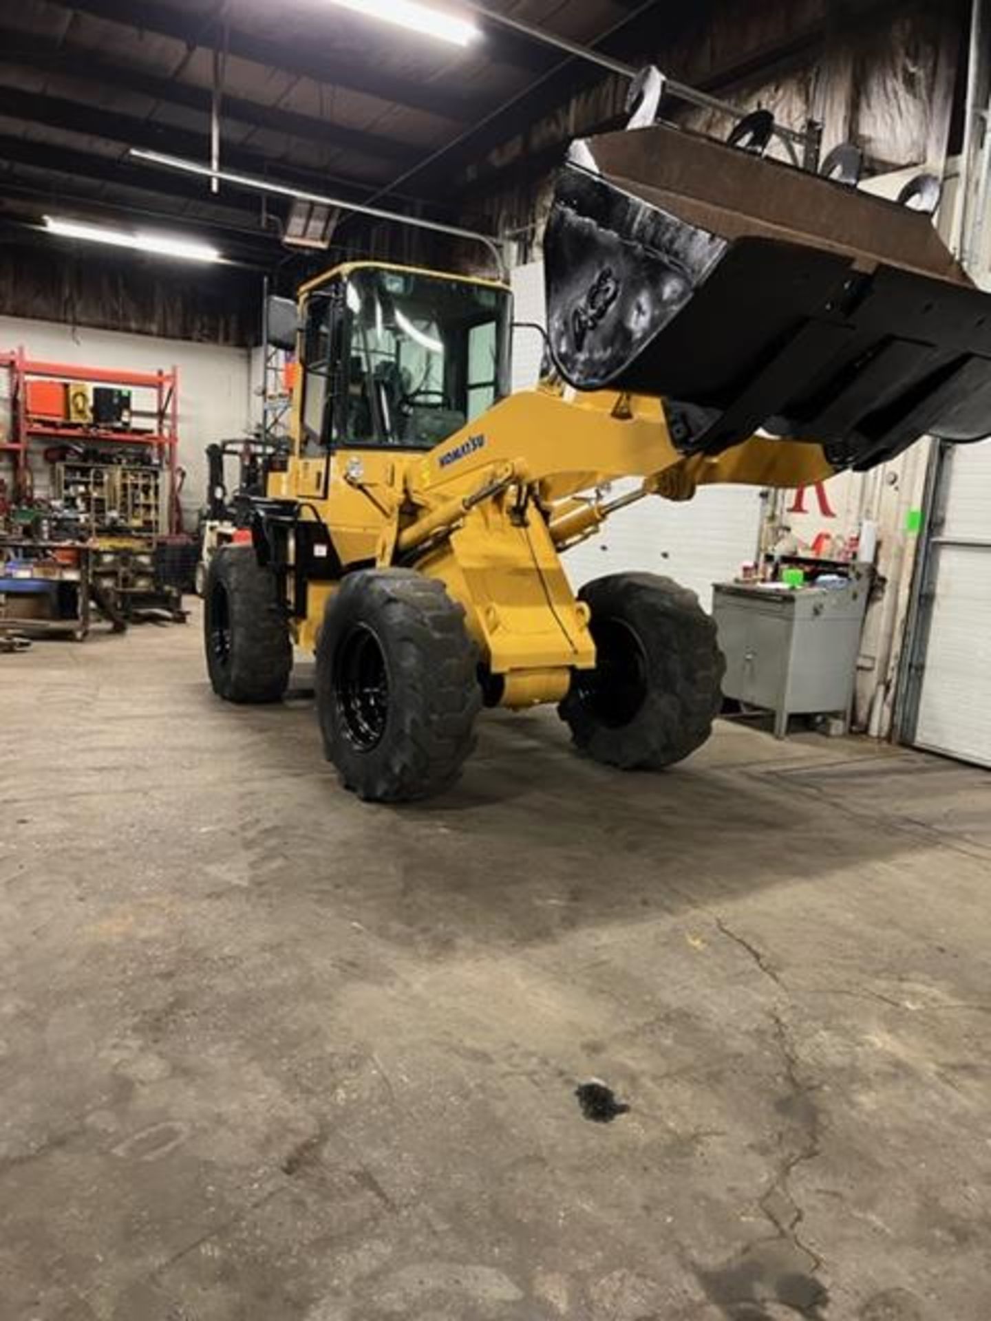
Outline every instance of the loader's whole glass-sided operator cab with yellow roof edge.
{"label": "loader's whole glass-sided operator cab with yellow roof edge", "polygon": [[300,453],[432,449],[509,392],[510,293],[342,267],[304,291]]}

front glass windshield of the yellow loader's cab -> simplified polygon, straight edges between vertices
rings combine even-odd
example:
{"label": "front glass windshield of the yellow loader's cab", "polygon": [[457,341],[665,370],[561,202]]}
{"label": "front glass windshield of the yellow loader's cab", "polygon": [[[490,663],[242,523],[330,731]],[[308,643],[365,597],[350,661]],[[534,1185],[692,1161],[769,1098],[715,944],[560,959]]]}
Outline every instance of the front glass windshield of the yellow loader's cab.
{"label": "front glass windshield of the yellow loader's cab", "polygon": [[345,305],[348,444],[431,449],[507,392],[505,291],[362,267]]}

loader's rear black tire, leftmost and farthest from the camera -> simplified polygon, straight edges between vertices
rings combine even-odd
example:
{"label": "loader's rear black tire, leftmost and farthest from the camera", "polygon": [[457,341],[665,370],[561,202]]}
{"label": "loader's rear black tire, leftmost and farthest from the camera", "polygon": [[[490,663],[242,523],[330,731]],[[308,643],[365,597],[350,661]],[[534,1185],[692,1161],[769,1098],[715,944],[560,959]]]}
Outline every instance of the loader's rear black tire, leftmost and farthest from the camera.
{"label": "loader's rear black tire, leftmost and farthest from the camera", "polygon": [[250,546],[223,546],[203,588],[203,645],[213,691],[225,701],[280,701],[292,642],[272,569]]}

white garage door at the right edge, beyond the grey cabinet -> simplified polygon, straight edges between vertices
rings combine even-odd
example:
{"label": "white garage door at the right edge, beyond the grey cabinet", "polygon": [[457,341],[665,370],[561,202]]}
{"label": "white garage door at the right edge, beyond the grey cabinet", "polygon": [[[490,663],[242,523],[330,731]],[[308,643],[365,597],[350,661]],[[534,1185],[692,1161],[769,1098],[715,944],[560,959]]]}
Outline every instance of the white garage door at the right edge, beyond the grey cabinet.
{"label": "white garage door at the right edge, beyond the grey cabinet", "polygon": [[914,741],[991,766],[991,441],[943,462]]}

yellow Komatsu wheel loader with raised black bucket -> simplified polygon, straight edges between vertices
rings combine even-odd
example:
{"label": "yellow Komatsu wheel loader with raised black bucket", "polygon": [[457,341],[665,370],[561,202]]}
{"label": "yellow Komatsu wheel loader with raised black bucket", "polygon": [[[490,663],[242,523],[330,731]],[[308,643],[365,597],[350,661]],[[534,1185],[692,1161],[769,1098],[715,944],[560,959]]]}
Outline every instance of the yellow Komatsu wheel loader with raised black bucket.
{"label": "yellow Komatsu wheel loader with raised black bucket", "polygon": [[379,802],[452,783],[482,707],[554,703],[621,769],[704,742],[723,659],[695,596],[650,573],[576,594],[568,548],[633,499],[991,431],[988,300],[930,217],[762,157],[752,129],[572,149],[534,391],[509,392],[498,281],[358,262],[301,289],[292,453],[251,544],[210,564],[219,696],[276,701],[293,643],[314,651],[326,756]]}

